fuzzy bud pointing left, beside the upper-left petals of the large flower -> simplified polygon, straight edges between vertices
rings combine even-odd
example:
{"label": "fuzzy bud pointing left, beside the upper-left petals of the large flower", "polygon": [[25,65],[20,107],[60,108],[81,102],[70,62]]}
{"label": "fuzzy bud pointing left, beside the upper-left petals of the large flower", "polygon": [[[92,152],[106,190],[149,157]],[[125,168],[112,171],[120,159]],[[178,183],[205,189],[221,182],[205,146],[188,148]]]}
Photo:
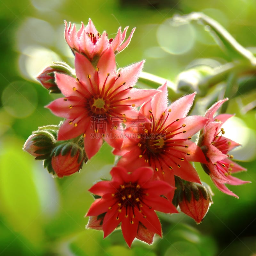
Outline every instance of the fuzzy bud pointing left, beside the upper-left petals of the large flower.
{"label": "fuzzy bud pointing left, beside the upper-left petals of the large flower", "polygon": [[52,64],[45,68],[41,74],[39,74],[36,79],[49,90],[50,93],[61,93],[57,84],[55,83],[54,72],[67,74],[72,76],[72,68],[64,62],[52,62]]}

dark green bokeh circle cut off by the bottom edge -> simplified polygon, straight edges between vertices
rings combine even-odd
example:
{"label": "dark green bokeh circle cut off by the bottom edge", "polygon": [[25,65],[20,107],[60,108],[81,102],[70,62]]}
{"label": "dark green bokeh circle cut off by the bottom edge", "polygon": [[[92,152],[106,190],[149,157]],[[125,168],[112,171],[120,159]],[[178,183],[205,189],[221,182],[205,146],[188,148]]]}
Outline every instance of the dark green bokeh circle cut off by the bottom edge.
{"label": "dark green bokeh circle cut off by the bottom edge", "polygon": [[164,253],[164,256],[201,256],[202,254],[197,249],[196,245],[188,242],[173,243]]}

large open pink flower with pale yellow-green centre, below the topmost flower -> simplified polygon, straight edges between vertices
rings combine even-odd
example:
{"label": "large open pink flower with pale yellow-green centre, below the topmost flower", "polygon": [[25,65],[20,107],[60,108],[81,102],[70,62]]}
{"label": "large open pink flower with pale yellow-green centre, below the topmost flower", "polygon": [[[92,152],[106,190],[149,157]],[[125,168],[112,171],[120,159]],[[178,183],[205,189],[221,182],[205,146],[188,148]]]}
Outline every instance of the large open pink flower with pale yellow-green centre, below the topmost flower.
{"label": "large open pink flower with pale yellow-green centre, below the topmost flower", "polygon": [[89,159],[94,156],[103,138],[112,147],[122,144],[122,122],[137,115],[140,106],[156,90],[133,89],[144,61],[116,71],[115,54],[106,50],[95,69],[83,55],[75,56],[75,79],[56,73],[56,83],[65,98],[54,100],[50,108],[56,116],[67,120],[61,125],[58,140],[84,136],[84,149]]}

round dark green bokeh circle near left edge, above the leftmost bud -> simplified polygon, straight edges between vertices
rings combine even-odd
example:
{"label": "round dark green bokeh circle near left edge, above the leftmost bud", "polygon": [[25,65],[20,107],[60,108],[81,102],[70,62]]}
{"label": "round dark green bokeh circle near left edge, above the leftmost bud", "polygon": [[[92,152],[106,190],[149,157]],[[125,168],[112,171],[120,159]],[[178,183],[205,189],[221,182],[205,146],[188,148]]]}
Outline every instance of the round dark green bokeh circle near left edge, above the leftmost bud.
{"label": "round dark green bokeh circle near left edge, above the leftmost bud", "polygon": [[37,92],[35,88],[24,81],[14,81],[2,93],[5,111],[16,118],[31,115],[37,107]]}

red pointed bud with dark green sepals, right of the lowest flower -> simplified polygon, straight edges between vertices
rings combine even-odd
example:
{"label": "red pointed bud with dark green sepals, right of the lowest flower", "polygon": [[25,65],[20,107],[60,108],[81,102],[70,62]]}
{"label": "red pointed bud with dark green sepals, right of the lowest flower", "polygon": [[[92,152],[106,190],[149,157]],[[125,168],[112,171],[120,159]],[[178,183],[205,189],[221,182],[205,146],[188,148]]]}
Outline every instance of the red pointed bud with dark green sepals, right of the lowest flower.
{"label": "red pointed bud with dark green sepals, right of the lowest flower", "polygon": [[210,191],[198,183],[187,182],[185,189],[180,191],[179,198],[181,212],[193,218],[198,224],[212,204]]}

